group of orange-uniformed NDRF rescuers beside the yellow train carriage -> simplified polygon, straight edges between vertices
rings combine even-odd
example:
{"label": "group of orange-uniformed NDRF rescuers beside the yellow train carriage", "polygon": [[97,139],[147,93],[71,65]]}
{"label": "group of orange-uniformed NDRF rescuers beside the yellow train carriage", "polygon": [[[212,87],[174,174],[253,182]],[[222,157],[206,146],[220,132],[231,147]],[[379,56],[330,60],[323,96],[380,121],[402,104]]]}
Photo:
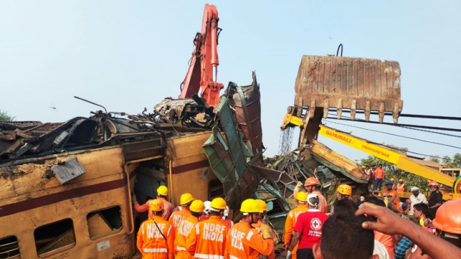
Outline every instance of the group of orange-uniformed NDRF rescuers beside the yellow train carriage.
{"label": "group of orange-uniformed NDRF rescuers beside the yellow train carriage", "polygon": [[275,236],[264,223],[268,209],[263,200],[243,201],[242,219],[233,224],[223,198],[203,202],[184,193],[175,208],[165,199],[165,186],[157,194],[143,205],[134,204],[149,215],[136,236],[142,259],[275,259]]}

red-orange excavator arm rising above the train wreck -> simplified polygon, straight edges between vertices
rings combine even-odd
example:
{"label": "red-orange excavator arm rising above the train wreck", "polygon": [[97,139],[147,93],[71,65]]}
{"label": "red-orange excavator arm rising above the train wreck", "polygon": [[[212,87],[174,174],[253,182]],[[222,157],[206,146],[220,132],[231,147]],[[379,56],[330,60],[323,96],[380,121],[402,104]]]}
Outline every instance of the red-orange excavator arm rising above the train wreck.
{"label": "red-orange excavator arm rising above the train wreck", "polygon": [[194,52],[181,87],[180,98],[191,98],[200,89],[200,96],[215,106],[219,101],[219,91],[224,85],[216,82],[219,58],[217,52],[218,11],[216,6],[205,4],[202,31],[194,38]]}

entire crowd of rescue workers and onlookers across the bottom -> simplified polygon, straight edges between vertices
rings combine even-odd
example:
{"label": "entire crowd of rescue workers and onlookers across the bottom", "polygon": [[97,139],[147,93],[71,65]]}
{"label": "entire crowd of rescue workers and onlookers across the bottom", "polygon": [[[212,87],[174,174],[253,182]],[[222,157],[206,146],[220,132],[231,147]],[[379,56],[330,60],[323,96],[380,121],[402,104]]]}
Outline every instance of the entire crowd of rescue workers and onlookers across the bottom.
{"label": "entire crowd of rescue workers and onlookers across the bottom", "polygon": [[[287,259],[461,258],[461,199],[443,203],[438,184],[430,182],[429,200],[412,187],[411,203],[397,207],[393,182],[385,185],[380,197],[358,203],[350,186],[339,185],[332,206],[316,178],[305,181],[306,192],[297,185],[296,207],[285,222]],[[203,202],[184,193],[174,207],[166,201],[165,186],[157,193],[146,204],[135,203],[138,212],[149,213],[137,234],[143,259],[275,259],[276,237],[264,221],[263,200],[243,201],[242,218],[234,224],[223,198]]]}

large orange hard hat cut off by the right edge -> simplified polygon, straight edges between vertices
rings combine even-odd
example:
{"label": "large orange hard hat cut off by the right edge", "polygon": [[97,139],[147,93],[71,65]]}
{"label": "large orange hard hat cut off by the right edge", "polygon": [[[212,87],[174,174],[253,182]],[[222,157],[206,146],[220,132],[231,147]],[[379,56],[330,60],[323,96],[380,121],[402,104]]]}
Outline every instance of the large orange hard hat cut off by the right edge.
{"label": "large orange hard hat cut off by the right edge", "polygon": [[461,234],[461,198],[442,204],[437,209],[432,225],[448,233]]}

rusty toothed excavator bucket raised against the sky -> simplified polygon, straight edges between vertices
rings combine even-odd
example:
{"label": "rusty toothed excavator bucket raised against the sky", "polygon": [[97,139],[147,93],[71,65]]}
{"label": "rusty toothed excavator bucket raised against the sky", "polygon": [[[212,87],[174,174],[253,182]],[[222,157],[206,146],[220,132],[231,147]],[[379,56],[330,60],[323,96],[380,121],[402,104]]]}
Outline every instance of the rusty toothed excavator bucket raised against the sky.
{"label": "rusty toothed excavator bucket raised against the sky", "polygon": [[385,113],[392,113],[397,123],[403,106],[400,65],[381,59],[303,56],[295,93],[297,106],[323,108],[324,118],[329,108],[336,108],[339,118],[343,109],[350,109],[352,120],[357,110],[363,110],[369,121],[370,112],[378,111],[380,122]]}

